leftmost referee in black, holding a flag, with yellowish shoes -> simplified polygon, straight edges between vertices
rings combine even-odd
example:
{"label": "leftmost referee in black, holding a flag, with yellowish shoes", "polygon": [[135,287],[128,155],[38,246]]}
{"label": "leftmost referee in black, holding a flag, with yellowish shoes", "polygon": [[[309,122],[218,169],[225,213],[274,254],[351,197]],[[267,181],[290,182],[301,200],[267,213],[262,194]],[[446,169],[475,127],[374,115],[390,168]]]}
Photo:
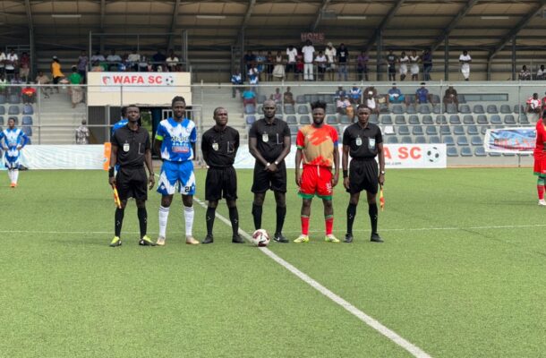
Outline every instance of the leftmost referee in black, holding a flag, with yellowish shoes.
{"label": "leftmost referee in black, holding a flag, with yellowish shoes", "polygon": [[[134,105],[126,108],[129,123],[119,128],[112,136],[112,151],[110,154],[110,168],[108,170],[108,183],[117,188],[121,208],[115,209],[115,236],[110,246],[122,244],[120,234],[124,222],[124,210],[128,198],[134,198],[137,205],[137,214],[141,228],[141,240],[139,244],[155,246],[146,235],[148,225],[148,213],[146,212],[146,200],[148,200],[148,188],[153,188],[156,183],[154,169],[151,163],[151,150],[148,130],[139,125],[141,111]],[[117,175],[114,176],[114,166],[119,165]],[[146,176],[144,164],[148,167],[149,175]]]}

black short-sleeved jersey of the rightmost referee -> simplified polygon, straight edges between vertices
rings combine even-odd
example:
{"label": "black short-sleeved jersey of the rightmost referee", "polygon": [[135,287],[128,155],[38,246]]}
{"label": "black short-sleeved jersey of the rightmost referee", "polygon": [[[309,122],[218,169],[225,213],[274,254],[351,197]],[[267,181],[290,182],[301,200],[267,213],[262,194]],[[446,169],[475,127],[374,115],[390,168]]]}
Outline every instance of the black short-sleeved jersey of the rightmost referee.
{"label": "black short-sleeved jersey of the rightmost referee", "polygon": [[349,147],[351,158],[369,159],[378,154],[378,145],[383,142],[380,127],[368,123],[365,127],[355,123],[343,132],[343,145]]}

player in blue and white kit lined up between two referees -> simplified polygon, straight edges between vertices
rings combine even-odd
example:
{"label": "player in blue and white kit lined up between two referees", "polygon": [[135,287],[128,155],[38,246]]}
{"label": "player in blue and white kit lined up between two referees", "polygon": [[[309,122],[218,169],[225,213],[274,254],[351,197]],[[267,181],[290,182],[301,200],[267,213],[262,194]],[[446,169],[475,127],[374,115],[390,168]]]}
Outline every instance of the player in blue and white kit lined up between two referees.
{"label": "player in blue and white kit lined up between two referees", "polygon": [[159,246],[165,245],[166,222],[175,192],[182,194],[186,243],[199,243],[192,236],[193,194],[195,193],[192,160],[195,153],[197,130],[195,123],[184,117],[186,101],[183,97],[173,98],[172,108],[173,116],[159,123],[154,141],[154,149],[163,160],[158,183],[158,192],[161,194],[157,243]]}

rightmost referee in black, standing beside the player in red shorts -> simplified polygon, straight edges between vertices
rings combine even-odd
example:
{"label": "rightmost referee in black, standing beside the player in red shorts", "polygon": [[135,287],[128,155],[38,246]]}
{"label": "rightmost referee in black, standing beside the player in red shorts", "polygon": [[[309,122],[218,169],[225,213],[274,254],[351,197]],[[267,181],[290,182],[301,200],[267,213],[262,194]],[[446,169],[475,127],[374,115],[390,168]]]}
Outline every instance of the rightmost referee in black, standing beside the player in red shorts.
{"label": "rightmost referee in black, standing beside the player in red shorts", "polygon": [[[368,214],[371,220],[371,241],[382,243],[377,232],[378,209],[376,196],[378,183],[385,183],[385,155],[383,152],[383,136],[380,127],[368,122],[371,111],[364,105],[356,109],[358,122],[349,125],[343,133],[343,186],[351,194],[347,207],[347,234],[346,243],[353,242],[353,223],[356,215],[356,206],[360,192],[366,191],[368,199]],[[351,156],[351,168],[347,172],[347,165]],[[380,173],[375,157],[379,156]]]}

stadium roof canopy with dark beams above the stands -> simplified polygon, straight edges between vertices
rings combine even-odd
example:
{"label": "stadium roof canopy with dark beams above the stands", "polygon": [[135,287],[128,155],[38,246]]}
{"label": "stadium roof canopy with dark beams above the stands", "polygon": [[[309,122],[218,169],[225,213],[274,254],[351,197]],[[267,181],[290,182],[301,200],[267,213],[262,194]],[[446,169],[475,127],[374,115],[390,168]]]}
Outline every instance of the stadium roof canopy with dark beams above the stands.
{"label": "stadium roof canopy with dark beams above the stands", "polygon": [[[489,50],[516,38],[518,49],[544,49],[546,0],[24,0],[0,2],[0,43],[86,48],[90,31],[106,46],[166,48],[183,30],[190,49],[299,45],[301,34],[351,47]],[[174,35],[169,35],[174,33]],[[132,34],[126,37],[121,34]],[[146,34],[149,34],[146,36]],[[32,38],[30,41],[29,38]],[[146,40],[142,38],[147,38]]]}

